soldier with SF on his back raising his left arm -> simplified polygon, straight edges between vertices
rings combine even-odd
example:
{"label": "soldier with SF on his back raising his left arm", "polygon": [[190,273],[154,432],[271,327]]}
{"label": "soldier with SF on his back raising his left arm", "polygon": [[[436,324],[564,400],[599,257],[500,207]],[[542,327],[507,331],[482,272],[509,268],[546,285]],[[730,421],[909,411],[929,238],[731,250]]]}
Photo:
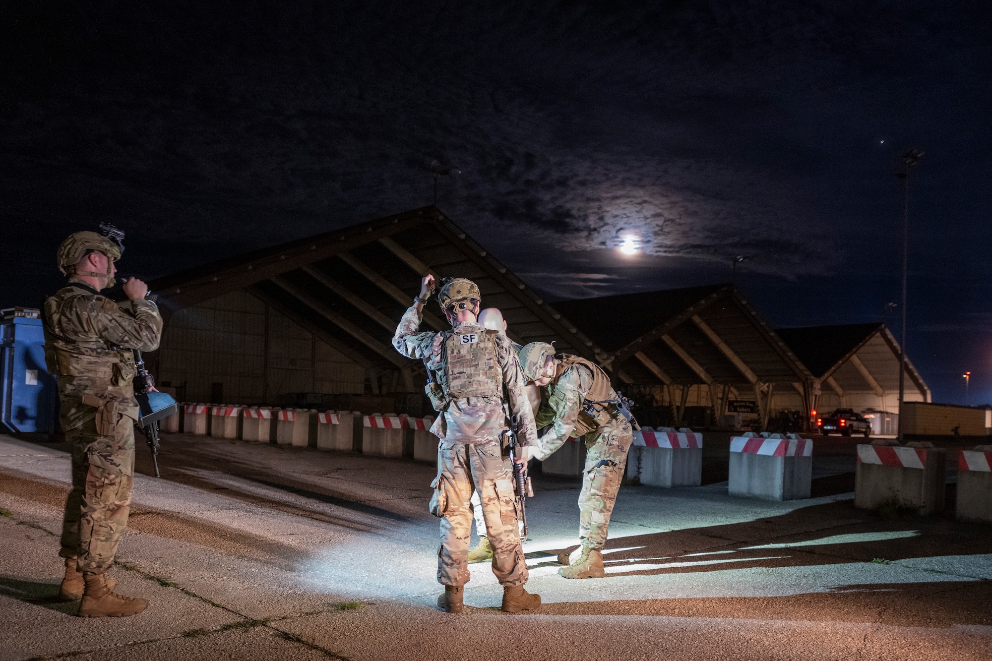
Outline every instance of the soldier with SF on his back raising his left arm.
{"label": "soldier with SF on his back raising his left arm", "polygon": [[444,594],[437,606],[462,611],[468,571],[468,542],[472,531],[472,491],[482,500],[493,574],[503,586],[503,610],[523,612],[541,605],[539,595],[524,590],[527,563],[517,529],[513,468],[503,457],[500,437],[508,428],[503,408],[504,388],[513,415],[519,417],[520,462],[526,462],[537,440],[534,415],[524,394],[524,375],[506,335],[487,331],[476,321],[479,289],[460,278],[444,282],[437,303],[451,331],[419,332],[421,315],[434,288],[427,276],[421,294],[407,310],[393,336],[393,346],[405,356],[420,358],[434,374],[428,394],[439,412],[431,431],[437,446],[437,476],[431,486],[431,512],[440,518],[437,582]]}

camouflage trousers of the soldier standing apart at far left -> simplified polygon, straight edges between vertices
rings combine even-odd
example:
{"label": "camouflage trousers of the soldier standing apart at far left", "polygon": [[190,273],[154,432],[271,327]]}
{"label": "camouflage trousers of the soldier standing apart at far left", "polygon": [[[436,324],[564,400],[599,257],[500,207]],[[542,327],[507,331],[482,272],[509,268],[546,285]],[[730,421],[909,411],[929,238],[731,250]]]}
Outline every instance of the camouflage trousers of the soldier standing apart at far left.
{"label": "camouflage trousers of the soldier standing apart at far left", "polygon": [[102,574],[114,563],[131,509],[134,421],[124,415],[113,436],[98,436],[93,420],[65,432],[72,454],[72,490],[62,519],[62,558],[80,572]]}

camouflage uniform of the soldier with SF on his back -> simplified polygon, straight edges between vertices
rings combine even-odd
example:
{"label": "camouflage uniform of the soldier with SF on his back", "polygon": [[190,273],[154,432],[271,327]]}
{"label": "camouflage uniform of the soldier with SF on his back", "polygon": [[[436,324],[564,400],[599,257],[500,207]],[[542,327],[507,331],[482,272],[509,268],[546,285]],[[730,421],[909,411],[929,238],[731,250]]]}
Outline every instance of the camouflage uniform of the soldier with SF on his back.
{"label": "camouflage uniform of the soldier with SF on his back", "polygon": [[[441,407],[431,431],[440,443],[437,447],[437,477],[431,511],[440,517],[440,549],[437,552],[437,582],[444,586],[461,586],[468,582],[467,556],[471,536],[472,508],[469,499],[478,489],[489,542],[493,547],[493,573],[504,587],[527,582],[527,564],[517,532],[517,507],[513,492],[513,468],[502,456],[500,436],[508,429],[503,409],[505,387],[510,408],[519,416],[518,435],[522,446],[537,441],[534,414],[524,393],[525,378],[506,335],[486,331],[480,324],[463,322],[451,331],[418,332],[421,314],[410,308],[403,316],[393,346],[405,356],[425,360],[443,384],[450,399]],[[492,361],[458,371],[451,365],[450,340],[461,335],[485,335],[480,341],[491,342]],[[447,376],[445,374],[450,372]],[[474,373],[472,373],[474,371]],[[460,378],[488,380],[490,394],[458,397]]]}

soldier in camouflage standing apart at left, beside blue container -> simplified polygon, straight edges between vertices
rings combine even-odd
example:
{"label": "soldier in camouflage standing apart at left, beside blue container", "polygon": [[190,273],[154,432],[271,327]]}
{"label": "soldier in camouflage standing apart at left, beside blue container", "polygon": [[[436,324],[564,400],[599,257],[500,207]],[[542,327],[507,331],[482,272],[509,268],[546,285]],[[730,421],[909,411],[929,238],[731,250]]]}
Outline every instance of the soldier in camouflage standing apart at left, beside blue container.
{"label": "soldier in camouflage standing apart at left, beside blue container", "polygon": [[122,250],[96,232],[76,232],[62,241],[59,268],[68,283],[46,299],[43,310],[45,357],[58,375],[60,421],[72,456],[60,595],[82,597],[83,617],[133,615],[148,604],[115,594],[104,576],[127,526],[134,479],[138,403],[132,349],[152,351],[162,335],[162,317],[145,300],[145,283],[128,280],[124,292],[130,300],[123,304],[99,294],[113,286]]}

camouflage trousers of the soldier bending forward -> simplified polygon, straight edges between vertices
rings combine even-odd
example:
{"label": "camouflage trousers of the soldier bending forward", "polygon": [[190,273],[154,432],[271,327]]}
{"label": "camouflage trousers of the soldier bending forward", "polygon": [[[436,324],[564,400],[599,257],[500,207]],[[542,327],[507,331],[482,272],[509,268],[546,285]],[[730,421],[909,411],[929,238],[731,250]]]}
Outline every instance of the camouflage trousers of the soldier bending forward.
{"label": "camouflage trousers of the soldier bending forward", "polygon": [[623,416],[585,435],[585,468],[578,494],[578,539],[582,546],[602,549],[606,545],[610,515],[633,443],[634,432]]}

